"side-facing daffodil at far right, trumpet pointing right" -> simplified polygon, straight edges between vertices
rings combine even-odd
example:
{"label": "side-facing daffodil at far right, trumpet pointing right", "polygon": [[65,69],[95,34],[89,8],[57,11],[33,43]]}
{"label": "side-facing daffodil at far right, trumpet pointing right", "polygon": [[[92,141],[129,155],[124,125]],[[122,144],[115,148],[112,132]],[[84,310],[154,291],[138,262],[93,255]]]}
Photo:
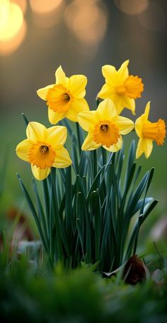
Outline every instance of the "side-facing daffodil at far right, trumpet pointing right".
{"label": "side-facing daffodil at far right, trumpet pointing right", "polygon": [[139,137],[136,152],[137,158],[143,153],[146,158],[149,158],[153,149],[153,141],[155,140],[156,144],[162,145],[166,137],[166,124],[164,120],[159,119],[158,122],[150,122],[148,120],[149,110],[150,102],[147,103],[144,114],[135,122],[135,130]]}

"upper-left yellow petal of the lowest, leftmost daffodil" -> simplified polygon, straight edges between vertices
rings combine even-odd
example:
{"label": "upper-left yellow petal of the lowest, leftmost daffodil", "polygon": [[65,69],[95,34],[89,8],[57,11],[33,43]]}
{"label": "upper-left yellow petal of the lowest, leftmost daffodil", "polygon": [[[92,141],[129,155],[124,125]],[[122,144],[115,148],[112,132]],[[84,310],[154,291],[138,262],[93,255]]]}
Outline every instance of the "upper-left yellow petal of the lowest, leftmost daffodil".
{"label": "upper-left yellow petal of the lowest, leftmost daffodil", "polygon": [[33,140],[34,142],[37,140],[44,140],[45,139],[45,130],[46,127],[39,122],[29,122],[26,134],[28,139]]}

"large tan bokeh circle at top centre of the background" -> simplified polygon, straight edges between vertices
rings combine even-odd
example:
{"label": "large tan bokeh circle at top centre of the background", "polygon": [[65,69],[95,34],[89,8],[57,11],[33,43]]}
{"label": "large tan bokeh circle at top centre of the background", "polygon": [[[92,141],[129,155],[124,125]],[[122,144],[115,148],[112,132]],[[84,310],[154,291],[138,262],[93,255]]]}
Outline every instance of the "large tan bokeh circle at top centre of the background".
{"label": "large tan bokeh circle at top centre of the background", "polygon": [[107,11],[100,1],[75,0],[67,6],[64,20],[79,41],[92,45],[105,35]]}

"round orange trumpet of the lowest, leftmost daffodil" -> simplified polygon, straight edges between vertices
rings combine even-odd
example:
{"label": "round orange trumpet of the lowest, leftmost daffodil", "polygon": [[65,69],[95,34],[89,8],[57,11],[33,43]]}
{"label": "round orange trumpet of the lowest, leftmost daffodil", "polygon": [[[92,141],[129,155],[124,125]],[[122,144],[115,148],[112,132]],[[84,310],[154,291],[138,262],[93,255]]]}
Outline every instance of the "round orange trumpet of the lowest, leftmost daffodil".
{"label": "round orange trumpet of the lowest, leftmost daffodil", "polygon": [[50,144],[46,142],[35,142],[31,145],[28,151],[28,160],[40,169],[51,167],[56,153]]}

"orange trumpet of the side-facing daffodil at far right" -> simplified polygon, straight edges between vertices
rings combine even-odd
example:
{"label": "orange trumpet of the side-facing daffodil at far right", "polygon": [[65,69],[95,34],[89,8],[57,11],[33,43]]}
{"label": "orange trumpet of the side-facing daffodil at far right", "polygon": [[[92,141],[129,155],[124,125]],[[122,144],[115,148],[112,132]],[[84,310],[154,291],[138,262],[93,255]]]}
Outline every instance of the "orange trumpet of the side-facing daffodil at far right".
{"label": "orange trumpet of the side-facing daffodil at far right", "polygon": [[146,139],[156,141],[156,144],[162,145],[166,137],[166,124],[164,120],[158,122],[148,122],[142,127],[142,135]]}

